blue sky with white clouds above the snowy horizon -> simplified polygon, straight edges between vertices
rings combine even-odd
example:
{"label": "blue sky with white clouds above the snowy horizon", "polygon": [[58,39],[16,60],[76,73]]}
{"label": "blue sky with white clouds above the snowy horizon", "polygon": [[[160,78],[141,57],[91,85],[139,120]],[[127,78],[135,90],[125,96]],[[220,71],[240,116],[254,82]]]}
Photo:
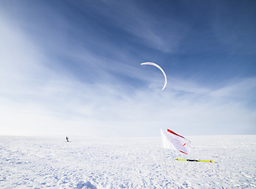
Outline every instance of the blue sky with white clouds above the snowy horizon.
{"label": "blue sky with white clouds above the snowy horizon", "polygon": [[0,135],[255,135],[255,9],[2,0]]}

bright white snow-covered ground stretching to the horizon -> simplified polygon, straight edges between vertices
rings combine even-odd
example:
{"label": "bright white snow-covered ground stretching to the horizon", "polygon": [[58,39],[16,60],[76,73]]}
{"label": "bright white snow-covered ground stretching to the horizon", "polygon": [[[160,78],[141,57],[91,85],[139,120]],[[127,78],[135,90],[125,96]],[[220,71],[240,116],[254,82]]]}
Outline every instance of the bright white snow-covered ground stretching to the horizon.
{"label": "bright white snow-covered ground stretching to the horizon", "polygon": [[256,188],[256,135],[188,137],[166,171],[160,138],[70,139],[0,136],[0,188]]}

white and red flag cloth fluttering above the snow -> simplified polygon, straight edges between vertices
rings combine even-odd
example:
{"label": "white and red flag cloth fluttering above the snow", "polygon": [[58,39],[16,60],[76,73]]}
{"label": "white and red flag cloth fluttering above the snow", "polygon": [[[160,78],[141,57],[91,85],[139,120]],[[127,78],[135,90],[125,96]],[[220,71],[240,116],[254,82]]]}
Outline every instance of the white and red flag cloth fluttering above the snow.
{"label": "white and red flag cloth fluttering above the snow", "polygon": [[161,139],[164,148],[178,150],[187,154],[190,141],[185,139],[184,136],[167,129],[167,132],[161,130]]}

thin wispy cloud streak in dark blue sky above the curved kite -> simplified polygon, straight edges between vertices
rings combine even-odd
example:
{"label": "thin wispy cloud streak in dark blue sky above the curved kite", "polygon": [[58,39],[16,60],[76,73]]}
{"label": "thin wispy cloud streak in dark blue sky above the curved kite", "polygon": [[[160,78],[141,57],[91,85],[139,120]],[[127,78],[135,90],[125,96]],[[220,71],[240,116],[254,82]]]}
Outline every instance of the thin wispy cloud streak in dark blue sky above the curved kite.
{"label": "thin wispy cloud streak in dark blue sky above the curved kite", "polygon": [[[190,30],[182,20],[169,18],[168,24],[165,24],[165,20],[161,20],[149,9],[143,9],[138,2],[102,1],[100,4],[91,3],[86,6],[97,10],[99,17],[118,30],[128,33],[127,37],[133,39],[134,43],[150,46],[154,50],[176,52],[176,47]],[[83,6],[80,7],[83,9]]]}

